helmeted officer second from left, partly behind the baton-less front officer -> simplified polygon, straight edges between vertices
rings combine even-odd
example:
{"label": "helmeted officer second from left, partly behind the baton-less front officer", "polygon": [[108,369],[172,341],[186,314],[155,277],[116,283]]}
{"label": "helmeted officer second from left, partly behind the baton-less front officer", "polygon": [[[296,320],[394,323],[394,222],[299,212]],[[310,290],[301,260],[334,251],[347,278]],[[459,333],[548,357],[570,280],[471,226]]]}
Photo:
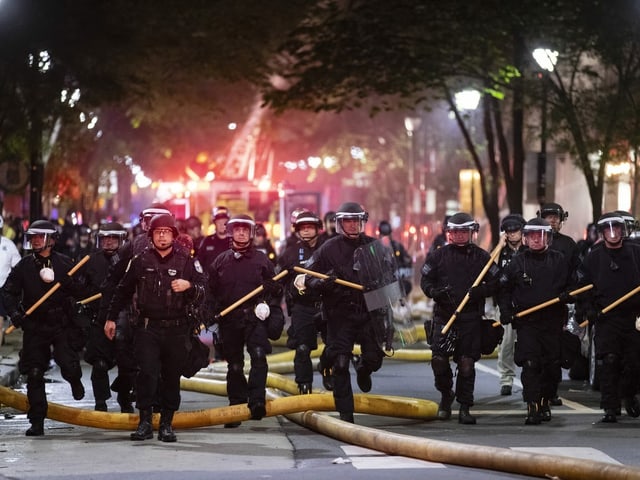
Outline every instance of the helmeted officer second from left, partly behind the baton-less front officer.
{"label": "helmeted officer second from left, partly behind the baton-less front officer", "polygon": [[[97,251],[90,255],[89,261],[76,274],[78,281],[83,285],[81,297],[90,298],[101,293],[101,287],[107,278],[109,267],[118,261],[118,249],[124,244],[127,237],[126,229],[117,222],[109,222],[100,225],[96,235]],[[104,320],[99,321],[99,301],[92,301],[79,307],[79,315],[89,319],[89,340],[84,359],[92,366],[91,385],[95,399],[95,410],[106,412],[107,399],[111,398],[109,388],[109,370],[116,365],[115,342],[109,340],[104,334]],[[131,384],[135,375],[135,363],[126,362],[118,365],[119,377],[130,379]],[[120,378],[119,383],[126,382]],[[131,388],[123,388],[118,393],[117,400],[122,413],[133,413],[131,400]]]}

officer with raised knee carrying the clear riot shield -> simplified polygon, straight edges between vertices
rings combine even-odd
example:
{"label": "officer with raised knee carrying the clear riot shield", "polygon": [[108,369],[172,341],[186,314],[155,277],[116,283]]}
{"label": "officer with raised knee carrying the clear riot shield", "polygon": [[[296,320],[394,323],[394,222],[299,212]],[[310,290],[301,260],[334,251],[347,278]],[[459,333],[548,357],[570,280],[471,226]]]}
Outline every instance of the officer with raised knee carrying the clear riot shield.
{"label": "officer with raised knee carrying the clear riot shield", "polygon": [[345,202],[336,211],[337,235],[329,238],[316,250],[307,266],[310,270],[329,275],[320,279],[307,275],[305,286],[322,294],[323,315],[327,321],[327,341],[321,369],[333,370],[333,398],[340,419],[353,423],[353,390],[349,363],[355,343],[362,355],[355,364],[360,390],[371,390],[371,373],[382,366],[384,351],[380,335],[383,319],[370,314],[360,290],[335,283],[336,278],[358,283],[354,254],[356,249],[375,241],[364,233],[369,215],[356,202]]}

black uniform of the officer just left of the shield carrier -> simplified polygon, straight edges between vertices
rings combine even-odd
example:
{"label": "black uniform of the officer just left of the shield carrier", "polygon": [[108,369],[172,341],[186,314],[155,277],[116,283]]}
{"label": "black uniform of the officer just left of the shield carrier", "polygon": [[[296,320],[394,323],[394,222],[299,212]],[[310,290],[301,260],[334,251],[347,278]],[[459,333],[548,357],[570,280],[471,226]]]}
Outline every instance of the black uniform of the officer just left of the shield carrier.
{"label": "black uniform of the officer just left of the shield carrier", "polygon": [[[313,365],[310,353],[318,348],[318,330],[322,328],[321,301],[319,293],[309,291],[303,295],[293,285],[296,272],[293,267],[307,268],[309,258],[317,250],[319,242],[312,248],[308,242],[298,240],[288,247],[278,259],[278,269],[288,270],[289,282],[285,288],[285,300],[291,326],[287,330],[287,346],[296,351],[293,358],[295,380],[301,393],[311,393],[313,384]],[[304,391],[302,391],[304,390]]]}

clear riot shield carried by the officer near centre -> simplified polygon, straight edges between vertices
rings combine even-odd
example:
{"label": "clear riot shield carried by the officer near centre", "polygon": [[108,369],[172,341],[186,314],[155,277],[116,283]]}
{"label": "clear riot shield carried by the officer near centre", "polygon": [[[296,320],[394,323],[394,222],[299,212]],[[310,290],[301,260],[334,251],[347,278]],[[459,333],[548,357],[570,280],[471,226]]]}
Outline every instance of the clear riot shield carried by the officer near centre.
{"label": "clear riot shield carried by the officer near centre", "polygon": [[405,292],[396,276],[393,252],[378,240],[363,245],[354,252],[354,270],[364,287],[367,309],[385,319],[387,337],[390,337],[389,332],[394,332],[393,339],[402,346],[415,343],[416,328]]}

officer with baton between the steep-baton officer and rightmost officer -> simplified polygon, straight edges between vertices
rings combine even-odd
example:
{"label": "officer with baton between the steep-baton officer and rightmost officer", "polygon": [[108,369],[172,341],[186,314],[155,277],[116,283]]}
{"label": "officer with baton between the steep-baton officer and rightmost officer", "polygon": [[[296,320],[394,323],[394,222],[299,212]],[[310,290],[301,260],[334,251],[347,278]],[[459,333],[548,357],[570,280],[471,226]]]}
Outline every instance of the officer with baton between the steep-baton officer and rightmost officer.
{"label": "officer with baton between the steep-baton officer and rightmost officer", "polygon": [[[534,218],[523,228],[527,249],[515,255],[500,275],[500,322],[512,324],[518,341],[516,365],[522,367],[523,398],[527,403],[526,425],[551,420],[549,399],[555,393],[560,365],[561,313],[573,299],[567,294],[571,269],[567,258],[549,248],[553,230],[546,220]],[[553,298],[544,309],[517,318],[523,310]]]}

